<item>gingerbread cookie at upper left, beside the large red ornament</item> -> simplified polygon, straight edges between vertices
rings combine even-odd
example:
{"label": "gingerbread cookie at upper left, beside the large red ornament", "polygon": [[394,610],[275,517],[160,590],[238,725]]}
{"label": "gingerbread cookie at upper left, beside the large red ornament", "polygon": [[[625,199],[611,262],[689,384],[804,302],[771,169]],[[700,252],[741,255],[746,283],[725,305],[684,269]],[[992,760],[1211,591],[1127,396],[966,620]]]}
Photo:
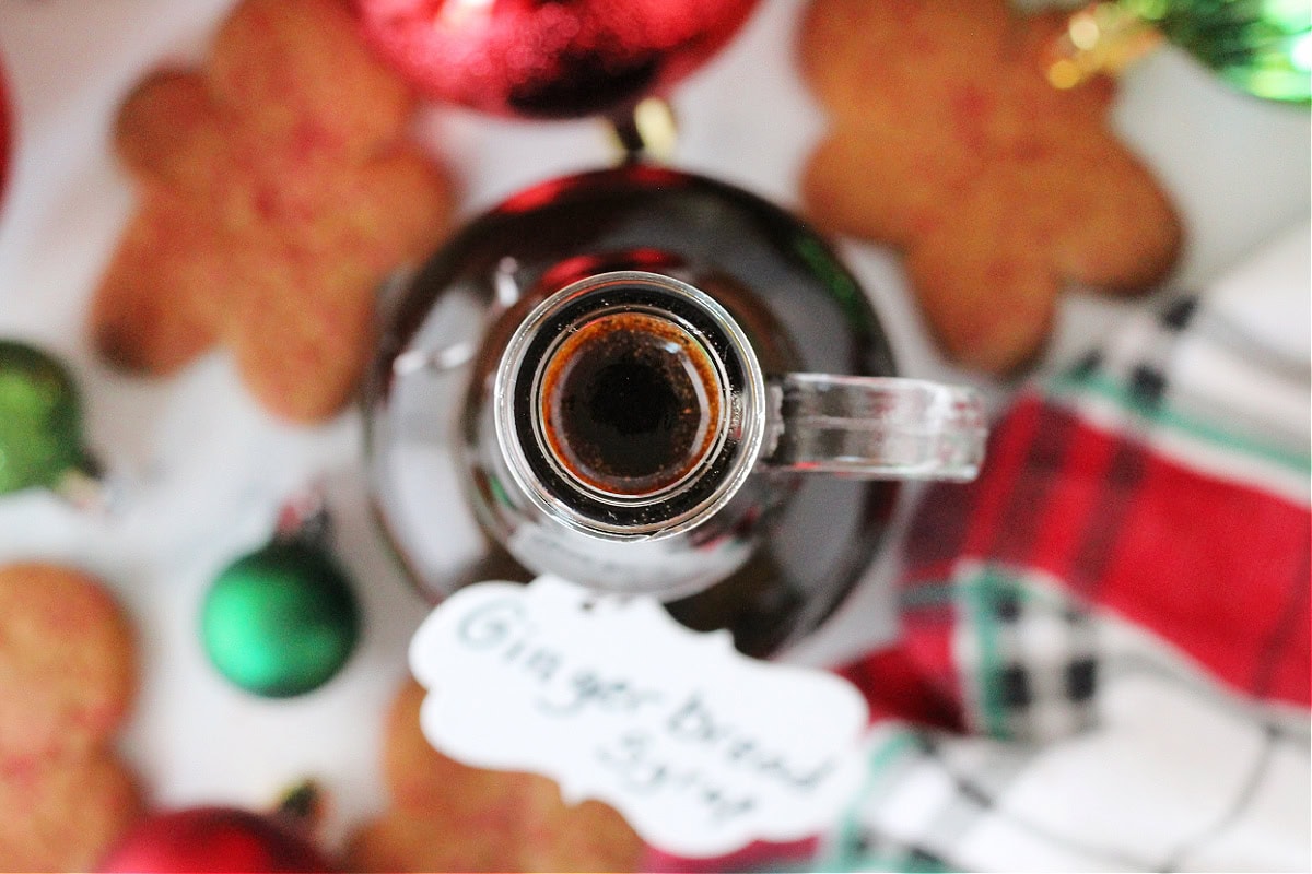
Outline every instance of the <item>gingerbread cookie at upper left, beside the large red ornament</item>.
{"label": "gingerbread cookie at upper left, beside the large red ornament", "polygon": [[446,229],[413,106],[344,0],[239,3],[202,69],[156,72],[119,110],[139,203],[92,305],[102,356],[165,375],[219,343],[272,413],[336,413],[379,284]]}

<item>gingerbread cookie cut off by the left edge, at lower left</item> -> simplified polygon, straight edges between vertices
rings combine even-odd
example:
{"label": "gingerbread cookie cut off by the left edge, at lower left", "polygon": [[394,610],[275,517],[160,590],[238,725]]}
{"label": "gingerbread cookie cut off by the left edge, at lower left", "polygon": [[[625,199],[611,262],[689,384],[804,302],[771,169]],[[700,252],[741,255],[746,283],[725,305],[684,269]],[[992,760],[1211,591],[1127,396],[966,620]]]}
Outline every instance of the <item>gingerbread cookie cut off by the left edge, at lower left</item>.
{"label": "gingerbread cookie cut off by the left edge, at lower left", "polygon": [[135,684],[131,629],[98,580],[0,567],[0,870],[91,870],[140,815],[112,748]]}

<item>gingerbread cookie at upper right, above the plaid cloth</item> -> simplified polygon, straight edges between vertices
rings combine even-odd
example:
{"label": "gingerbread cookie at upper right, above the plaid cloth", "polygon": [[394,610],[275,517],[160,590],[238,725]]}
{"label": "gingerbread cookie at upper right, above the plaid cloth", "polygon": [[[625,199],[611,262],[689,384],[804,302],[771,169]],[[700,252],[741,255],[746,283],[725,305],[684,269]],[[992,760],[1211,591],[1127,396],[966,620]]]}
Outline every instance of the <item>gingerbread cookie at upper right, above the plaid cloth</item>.
{"label": "gingerbread cookie at upper right, above the plaid cloth", "polygon": [[1107,128],[1113,83],[1046,79],[1064,21],[1005,0],[815,0],[804,20],[830,119],[808,211],[899,248],[946,352],[998,375],[1043,350],[1064,286],[1147,290],[1181,246],[1166,194]]}

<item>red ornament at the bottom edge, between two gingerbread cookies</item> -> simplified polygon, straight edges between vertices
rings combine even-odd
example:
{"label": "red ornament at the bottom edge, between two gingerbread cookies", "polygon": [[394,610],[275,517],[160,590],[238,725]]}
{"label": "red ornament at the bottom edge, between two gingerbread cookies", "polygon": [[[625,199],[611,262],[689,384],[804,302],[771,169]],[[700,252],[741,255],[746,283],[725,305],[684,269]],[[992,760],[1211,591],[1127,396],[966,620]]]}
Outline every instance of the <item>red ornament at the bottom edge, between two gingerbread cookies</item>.
{"label": "red ornament at the bottom edge, between two gingerbread cookies", "polygon": [[235,807],[192,807],[150,816],[100,866],[102,874],[333,870],[277,816]]}

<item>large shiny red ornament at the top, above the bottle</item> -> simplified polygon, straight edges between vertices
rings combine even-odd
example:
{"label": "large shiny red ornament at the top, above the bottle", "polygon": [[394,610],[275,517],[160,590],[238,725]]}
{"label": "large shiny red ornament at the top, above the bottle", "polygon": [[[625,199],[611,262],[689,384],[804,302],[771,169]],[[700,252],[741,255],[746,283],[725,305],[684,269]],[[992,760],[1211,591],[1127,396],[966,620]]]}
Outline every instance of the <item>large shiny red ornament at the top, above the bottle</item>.
{"label": "large shiny red ornament at the top, above the bottle", "polygon": [[370,42],[433,97],[499,115],[621,113],[686,76],[757,0],[356,0]]}

